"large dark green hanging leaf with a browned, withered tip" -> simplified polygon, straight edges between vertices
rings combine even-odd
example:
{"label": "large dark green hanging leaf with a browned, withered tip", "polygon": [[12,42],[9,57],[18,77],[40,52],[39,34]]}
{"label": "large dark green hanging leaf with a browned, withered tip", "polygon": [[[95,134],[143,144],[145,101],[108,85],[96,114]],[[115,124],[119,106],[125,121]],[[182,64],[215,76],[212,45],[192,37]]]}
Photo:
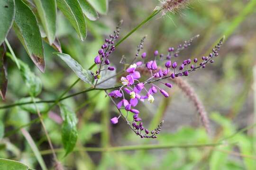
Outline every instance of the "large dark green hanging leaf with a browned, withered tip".
{"label": "large dark green hanging leaf with a browned, withered tip", "polygon": [[15,5],[16,12],[13,29],[19,41],[25,47],[29,57],[36,64],[37,68],[44,72],[44,48],[37,18],[22,0],[15,0]]}

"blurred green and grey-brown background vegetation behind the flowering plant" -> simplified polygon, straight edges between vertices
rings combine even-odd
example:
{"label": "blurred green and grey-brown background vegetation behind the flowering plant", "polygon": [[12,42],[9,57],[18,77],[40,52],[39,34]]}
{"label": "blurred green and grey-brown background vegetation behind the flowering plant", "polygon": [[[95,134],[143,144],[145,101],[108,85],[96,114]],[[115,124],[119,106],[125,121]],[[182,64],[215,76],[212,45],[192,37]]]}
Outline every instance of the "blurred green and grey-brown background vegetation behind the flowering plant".
{"label": "blurred green and grey-brown background vegetation behind the flowering plant", "polygon": [[[165,120],[162,132],[154,140],[142,140],[135,136],[124,121],[111,125],[110,118],[116,115],[117,110],[110,104],[109,99],[105,98],[105,93],[90,92],[63,101],[76,110],[79,119],[76,146],[83,148],[75,149],[65,158],[64,152],[58,150],[58,157],[63,165],[68,170],[256,170],[256,127],[252,126],[256,123],[255,1],[194,0],[188,8],[176,14],[156,16],[150,20],[120,44],[111,56],[116,65],[122,55],[127,59],[132,58],[144,35],[147,35],[147,38],[143,50],[152,54],[157,49],[166,53],[168,47],[176,47],[179,43],[200,34],[200,37],[181,53],[178,60],[201,58],[225,35],[225,43],[215,63],[185,78],[199,95],[208,112],[213,132],[211,137],[208,137],[201,127],[201,120],[192,101],[176,85],[170,91],[170,98],[164,99],[159,95],[153,104],[139,105],[146,127],[155,127],[162,119]],[[88,36],[85,42],[80,41],[73,27],[59,13],[57,37],[63,52],[70,54],[84,68],[89,68],[104,38],[115,29],[119,20],[124,20],[120,33],[120,37],[123,37],[150,15],[157,5],[157,0],[111,0],[106,16],[100,16],[96,22],[87,20]],[[9,34],[8,39],[18,58],[28,63],[42,80],[43,92],[39,96],[41,99],[54,100],[77,79],[72,70],[52,54],[54,49],[46,43],[46,72],[42,74],[27,57],[17,37]],[[18,69],[10,59],[8,79],[6,100],[0,101],[0,105],[10,104],[28,96]],[[86,86],[79,82],[69,94],[85,88]],[[58,108],[46,116],[46,128],[55,148],[62,148],[61,125],[52,118],[53,115],[59,115]],[[0,110],[0,118],[4,120],[5,134],[8,134],[37,118],[37,115],[14,107]],[[27,127],[27,130],[42,151],[47,166],[52,167],[52,156],[47,151],[48,143],[40,124],[34,123]],[[231,137],[221,140],[227,136]],[[226,145],[119,152],[86,151],[86,147],[140,144],[175,146],[219,141]],[[32,168],[40,169],[19,131],[5,136],[2,143],[6,144],[6,147],[0,147],[1,158],[22,161]]]}

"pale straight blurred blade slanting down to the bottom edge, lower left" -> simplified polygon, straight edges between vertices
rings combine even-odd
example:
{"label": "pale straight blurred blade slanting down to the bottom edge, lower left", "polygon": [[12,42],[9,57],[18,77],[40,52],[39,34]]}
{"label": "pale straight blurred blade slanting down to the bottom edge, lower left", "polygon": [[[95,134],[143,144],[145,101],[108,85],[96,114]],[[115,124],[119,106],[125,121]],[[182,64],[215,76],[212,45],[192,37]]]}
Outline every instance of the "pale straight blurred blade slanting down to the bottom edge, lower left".
{"label": "pale straight blurred blade slanting down to the bottom edge, lower left", "polygon": [[33,153],[35,154],[37,161],[39,162],[42,170],[47,170],[46,168],[46,164],[42,158],[42,155],[40,154],[37,145],[35,144],[34,140],[32,139],[32,137],[30,136],[30,134],[27,132],[27,130],[25,128],[20,129],[22,135],[26,138],[27,143],[29,144],[29,146],[31,147]]}

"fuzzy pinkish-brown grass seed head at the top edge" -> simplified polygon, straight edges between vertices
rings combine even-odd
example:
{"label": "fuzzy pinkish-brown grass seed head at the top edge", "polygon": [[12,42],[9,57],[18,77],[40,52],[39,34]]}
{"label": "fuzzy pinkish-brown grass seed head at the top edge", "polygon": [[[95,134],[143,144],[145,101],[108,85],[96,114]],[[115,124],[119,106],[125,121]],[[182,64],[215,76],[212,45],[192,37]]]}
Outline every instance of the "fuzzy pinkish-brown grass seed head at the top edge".
{"label": "fuzzy pinkish-brown grass seed head at the top edge", "polygon": [[162,6],[156,7],[156,10],[162,10],[162,16],[168,12],[175,13],[182,8],[186,8],[189,0],[160,0]]}

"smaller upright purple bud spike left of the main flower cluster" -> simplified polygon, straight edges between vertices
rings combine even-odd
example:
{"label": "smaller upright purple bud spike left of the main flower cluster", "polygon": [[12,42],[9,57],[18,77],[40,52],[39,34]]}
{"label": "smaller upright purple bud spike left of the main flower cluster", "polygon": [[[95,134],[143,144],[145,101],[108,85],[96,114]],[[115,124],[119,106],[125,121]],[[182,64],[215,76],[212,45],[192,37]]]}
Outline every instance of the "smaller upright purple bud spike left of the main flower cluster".
{"label": "smaller upright purple bud spike left of the main flower cluster", "polygon": [[98,55],[94,58],[94,63],[97,65],[98,69],[96,70],[95,75],[93,74],[95,79],[101,78],[101,71],[103,70],[115,70],[114,67],[103,68],[102,66],[110,65],[109,56],[115,50],[114,42],[119,38],[119,32],[122,25],[122,21],[120,21],[119,25],[116,27],[114,34],[110,34],[110,38],[105,39],[105,43],[101,46],[101,49],[98,51]]}

